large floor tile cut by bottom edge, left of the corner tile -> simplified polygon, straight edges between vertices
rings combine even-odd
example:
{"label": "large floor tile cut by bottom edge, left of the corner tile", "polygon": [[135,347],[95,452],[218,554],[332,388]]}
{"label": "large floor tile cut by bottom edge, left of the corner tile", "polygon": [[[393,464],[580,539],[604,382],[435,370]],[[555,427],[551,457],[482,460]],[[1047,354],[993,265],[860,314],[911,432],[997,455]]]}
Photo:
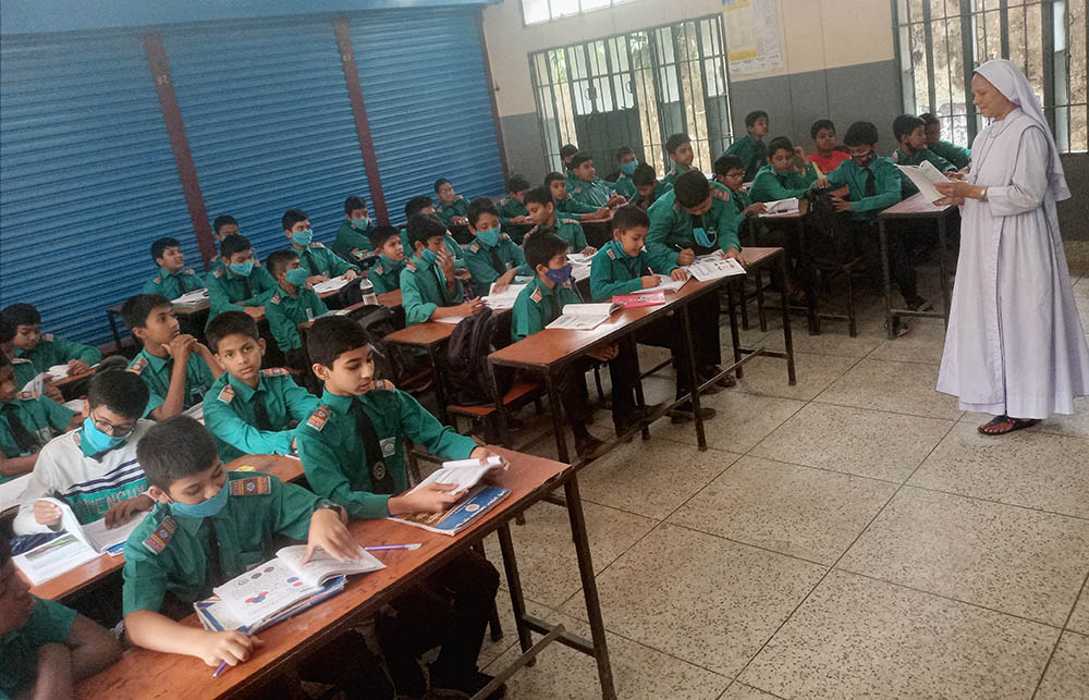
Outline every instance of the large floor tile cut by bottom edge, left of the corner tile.
{"label": "large floor tile cut by bottom edge, left of the corner tile", "polygon": [[738,680],[806,700],[1025,700],[1056,630],[833,572]]}

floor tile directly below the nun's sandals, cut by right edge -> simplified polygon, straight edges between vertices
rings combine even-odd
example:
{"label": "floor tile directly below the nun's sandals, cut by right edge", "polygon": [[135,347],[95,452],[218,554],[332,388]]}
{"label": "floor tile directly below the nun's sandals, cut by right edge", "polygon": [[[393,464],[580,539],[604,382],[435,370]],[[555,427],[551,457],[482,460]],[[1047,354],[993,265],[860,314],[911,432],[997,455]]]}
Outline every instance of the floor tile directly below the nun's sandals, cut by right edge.
{"label": "floor tile directly below the nun's sandals, cut by right edge", "polygon": [[1089,518],[1089,440],[1023,430],[981,435],[957,423],[911,486]]}

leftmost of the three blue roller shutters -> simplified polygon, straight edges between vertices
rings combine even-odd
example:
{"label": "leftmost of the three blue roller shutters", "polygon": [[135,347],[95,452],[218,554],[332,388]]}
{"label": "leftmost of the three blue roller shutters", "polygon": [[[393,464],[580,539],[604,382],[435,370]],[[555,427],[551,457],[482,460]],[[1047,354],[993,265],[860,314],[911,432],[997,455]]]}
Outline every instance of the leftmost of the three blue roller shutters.
{"label": "leftmost of the three blue roller shutters", "polygon": [[139,292],[168,235],[200,269],[139,34],[0,38],[0,304],[107,342],[103,309]]}

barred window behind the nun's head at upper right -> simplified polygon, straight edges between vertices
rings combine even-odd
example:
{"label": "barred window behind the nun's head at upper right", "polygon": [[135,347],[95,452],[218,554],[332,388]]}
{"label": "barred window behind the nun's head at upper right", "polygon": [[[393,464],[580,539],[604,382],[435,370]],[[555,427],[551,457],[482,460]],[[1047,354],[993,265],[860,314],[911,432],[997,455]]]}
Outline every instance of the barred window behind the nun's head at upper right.
{"label": "barred window behind the nun's head at upper right", "polygon": [[933,112],[942,138],[971,145],[972,70],[1003,58],[1028,76],[1059,149],[1087,150],[1086,0],[893,0],[893,16],[904,111]]}

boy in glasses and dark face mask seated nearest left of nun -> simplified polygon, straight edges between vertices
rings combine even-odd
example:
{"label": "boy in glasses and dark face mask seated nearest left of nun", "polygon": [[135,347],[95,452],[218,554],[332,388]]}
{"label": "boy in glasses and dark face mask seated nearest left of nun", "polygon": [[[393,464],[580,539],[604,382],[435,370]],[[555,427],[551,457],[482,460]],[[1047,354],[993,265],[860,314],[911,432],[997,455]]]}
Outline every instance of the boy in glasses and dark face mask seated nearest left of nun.
{"label": "boy in glasses and dark face mask seated nearest left of nun", "polygon": [[[851,152],[851,160],[843,161],[828,173],[828,180],[834,187],[847,185],[851,189],[846,197],[833,197],[832,204],[836,211],[849,212],[846,214],[849,217],[847,223],[867,249],[870,269],[880,270],[881,263],[873,245],[877,240],[874,220],[883,209],[900,201],[900,171],[891,159],[878,156],[878,128],[870,122],[852,124],[843,143]],[[889,267],[907,308],[925,308],[928,303],[918,295],[915,266],[907,253],[903,232],[891,226],[888,243]]]}

